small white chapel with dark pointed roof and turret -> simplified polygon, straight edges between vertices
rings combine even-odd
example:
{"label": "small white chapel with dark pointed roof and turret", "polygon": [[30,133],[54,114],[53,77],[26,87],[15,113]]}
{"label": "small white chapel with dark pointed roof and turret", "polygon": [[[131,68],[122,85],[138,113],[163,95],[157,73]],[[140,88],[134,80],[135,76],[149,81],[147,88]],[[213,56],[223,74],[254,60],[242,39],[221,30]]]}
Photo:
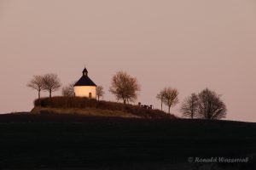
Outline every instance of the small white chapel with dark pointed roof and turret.
{"label": "small white chapel with dark pointed roof and turret", "polygon": [[73,88],[74,95],[76,97],[96,99],[96,83],[90,80],[90,77],[88,77],[88,71],[85,67],[82,77],[74,84]]}

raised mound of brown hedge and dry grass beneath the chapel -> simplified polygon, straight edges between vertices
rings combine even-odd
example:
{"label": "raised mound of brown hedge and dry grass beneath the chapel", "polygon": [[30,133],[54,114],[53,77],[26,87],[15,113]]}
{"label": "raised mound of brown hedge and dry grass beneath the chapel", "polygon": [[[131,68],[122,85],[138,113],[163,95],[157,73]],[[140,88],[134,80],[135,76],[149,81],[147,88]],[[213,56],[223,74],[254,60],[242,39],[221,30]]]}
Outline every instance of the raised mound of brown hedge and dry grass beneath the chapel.
{"label": "raised mound of brown hedge and dry grass beneath the chapel", "polygon": [[53,97],[36,99],[32,114],[80,114],[84,116],[119,116],[136,118],[177,118],[164,111],[144,108],[139,105],[124,105],[117,102],[97,101],[79,97]]}

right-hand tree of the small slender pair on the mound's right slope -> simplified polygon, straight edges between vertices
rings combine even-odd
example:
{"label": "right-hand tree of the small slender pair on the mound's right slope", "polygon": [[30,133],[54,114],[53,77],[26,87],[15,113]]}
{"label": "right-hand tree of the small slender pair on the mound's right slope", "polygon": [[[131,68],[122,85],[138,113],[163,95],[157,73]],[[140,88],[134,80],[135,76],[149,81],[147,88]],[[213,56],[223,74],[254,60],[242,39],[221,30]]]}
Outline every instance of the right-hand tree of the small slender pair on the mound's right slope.
{"label": "right-hand tree of the small slender pair on the mound's right slope", "polygon": [[170,109],[172,106],[177,105],[177,89],[176,88],[165,88],[163,90],[164,93],[164,100],[163,102],[168,106],[168,112],[170,113]]}

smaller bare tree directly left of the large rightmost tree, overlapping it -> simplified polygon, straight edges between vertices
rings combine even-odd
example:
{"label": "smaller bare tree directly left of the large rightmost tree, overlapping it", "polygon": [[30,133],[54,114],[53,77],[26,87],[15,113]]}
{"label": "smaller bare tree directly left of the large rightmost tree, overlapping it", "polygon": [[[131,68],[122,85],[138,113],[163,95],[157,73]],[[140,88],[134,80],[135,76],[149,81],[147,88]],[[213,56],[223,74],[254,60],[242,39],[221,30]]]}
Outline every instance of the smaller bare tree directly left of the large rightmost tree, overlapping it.
{"label": "smaller bare tree directly left of the large rightmost tree, overlapping it", "polygon": [[183,100],[183,104],[180,108],[184,117],[195,118],[195,114],[198,111],[198,97],[196,94],[191,94],[188,98]]}

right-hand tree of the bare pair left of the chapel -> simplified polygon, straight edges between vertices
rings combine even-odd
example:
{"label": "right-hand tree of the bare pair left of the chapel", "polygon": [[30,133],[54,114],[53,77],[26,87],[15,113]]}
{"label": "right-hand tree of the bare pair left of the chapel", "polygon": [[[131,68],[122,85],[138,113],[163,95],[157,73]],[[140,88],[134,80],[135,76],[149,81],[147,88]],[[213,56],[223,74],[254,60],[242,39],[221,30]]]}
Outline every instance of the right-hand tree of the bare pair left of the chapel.
{"label": "right-hand tree of the bare pair left of the chapel", "polygon": [[51,94],[61,88],[61,81],[56,74],[46,74],[43,77],[43,89],[49,92],[49,98]]}

